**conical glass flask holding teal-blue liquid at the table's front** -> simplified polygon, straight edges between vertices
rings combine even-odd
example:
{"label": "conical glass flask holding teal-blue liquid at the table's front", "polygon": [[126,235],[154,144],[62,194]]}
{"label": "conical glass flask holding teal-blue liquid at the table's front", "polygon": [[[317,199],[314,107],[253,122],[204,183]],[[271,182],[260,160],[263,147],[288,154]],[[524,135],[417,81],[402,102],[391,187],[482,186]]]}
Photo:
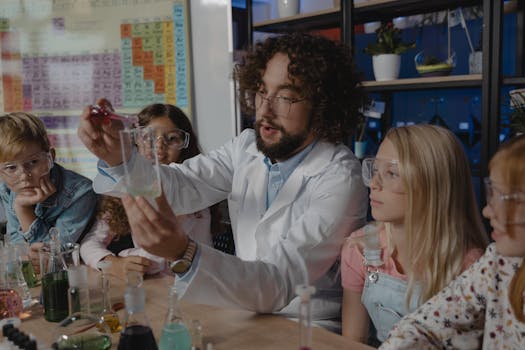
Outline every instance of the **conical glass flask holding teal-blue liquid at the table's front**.
{"label": "conical glass flask holding teal-blue liquid at the table's front", "polygon": [[190,350],[191,336],[182,318],[177,292],[173,285],[168,293],[168,313],[162,327],[159,350]]}

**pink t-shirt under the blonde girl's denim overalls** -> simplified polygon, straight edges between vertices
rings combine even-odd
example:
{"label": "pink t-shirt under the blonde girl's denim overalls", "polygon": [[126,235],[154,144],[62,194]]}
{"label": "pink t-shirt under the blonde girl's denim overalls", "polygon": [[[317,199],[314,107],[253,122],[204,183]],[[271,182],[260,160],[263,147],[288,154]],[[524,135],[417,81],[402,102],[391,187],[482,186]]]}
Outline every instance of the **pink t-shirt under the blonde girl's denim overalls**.
{"label": "pink t-shirt under the blonde girl's denim overalls", "polygon": [[[352,292],[361,293],[363,291],[367,266],[364,264],[362,248],[358,244],[352,244],[352,239],[364,234],[363,229],[353,232],[343,244],[341,252],[341,282],[343,288]],[[396,268],[396,263],[392,257],[385,259],[386,252],[386,232],[384,226],[379,232],[379,242],[381,245],[381,259],[384,264],[378,267],[379,272],[390,275],[395,278],[406,280],[407,276],[400,273]],[[471,249],[465,256],[463,270],[466,270],[478,258],[483,255],[483,250],[479,248]],[[375,270],[375,268],[374,268]]]}

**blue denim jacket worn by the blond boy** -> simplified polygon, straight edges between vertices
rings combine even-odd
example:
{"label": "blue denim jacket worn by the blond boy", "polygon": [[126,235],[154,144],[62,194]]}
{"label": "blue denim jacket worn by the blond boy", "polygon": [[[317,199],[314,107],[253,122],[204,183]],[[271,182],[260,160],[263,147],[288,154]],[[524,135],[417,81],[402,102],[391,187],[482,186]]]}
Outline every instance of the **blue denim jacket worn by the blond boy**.
{"label": "blue denim jacket worn by the blond boy", "polygon": [[91,180],[55,163],[51,168],[51,182],[57,192],[35,206],[36,219],[23,232],[16,216],[16,193],[0,182],[0,198],[7,218],[6,234],[12,242],[47,242],[49,229],[56,227],[63,243],[76,242],[91,223],[97,204]]}

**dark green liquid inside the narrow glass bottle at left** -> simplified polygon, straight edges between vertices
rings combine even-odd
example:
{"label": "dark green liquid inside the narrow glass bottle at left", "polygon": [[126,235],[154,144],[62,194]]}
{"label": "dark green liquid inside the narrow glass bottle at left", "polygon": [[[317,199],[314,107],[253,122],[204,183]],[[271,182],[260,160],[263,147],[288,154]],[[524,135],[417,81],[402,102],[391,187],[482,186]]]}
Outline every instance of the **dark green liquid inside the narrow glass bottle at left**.
{"label": "dark green liquid inside the narrow glass bottle at left", "polygon": [[60,322],[69,314],[67,271],[51,272],[42,278],[44,317],[49,322]]}

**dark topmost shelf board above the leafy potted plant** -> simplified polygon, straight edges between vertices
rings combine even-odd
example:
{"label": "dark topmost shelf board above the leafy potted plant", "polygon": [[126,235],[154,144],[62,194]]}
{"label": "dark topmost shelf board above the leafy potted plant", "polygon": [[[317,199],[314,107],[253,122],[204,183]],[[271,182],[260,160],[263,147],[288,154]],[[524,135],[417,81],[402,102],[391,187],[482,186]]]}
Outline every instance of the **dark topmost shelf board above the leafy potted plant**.
{"label": "dark topmost shelf board above the leafy potted plant", "polygon": [[482,5],[482,0],[371,0],[357,4],[354,8],[354,23],[375,20],[390,20],[399,16],[411,16],[457,7]]}

